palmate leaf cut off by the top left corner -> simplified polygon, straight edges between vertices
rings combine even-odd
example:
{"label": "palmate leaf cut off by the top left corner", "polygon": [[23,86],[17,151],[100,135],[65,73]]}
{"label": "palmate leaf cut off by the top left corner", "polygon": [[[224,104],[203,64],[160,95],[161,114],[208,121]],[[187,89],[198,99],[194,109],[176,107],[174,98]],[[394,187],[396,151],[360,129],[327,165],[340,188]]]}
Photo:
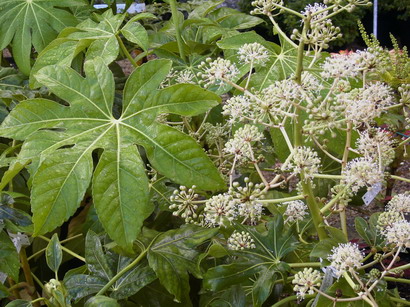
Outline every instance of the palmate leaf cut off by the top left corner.
{"label": "palmate leaf cut off by the top left corner", "polygon": [[84,1],[0,1],[0,50],[11,43],[17,66],[28,75],[31,46],[40,52],[62,29],[74,26],[77,19],[62,8],[80,5],[84,5]]}

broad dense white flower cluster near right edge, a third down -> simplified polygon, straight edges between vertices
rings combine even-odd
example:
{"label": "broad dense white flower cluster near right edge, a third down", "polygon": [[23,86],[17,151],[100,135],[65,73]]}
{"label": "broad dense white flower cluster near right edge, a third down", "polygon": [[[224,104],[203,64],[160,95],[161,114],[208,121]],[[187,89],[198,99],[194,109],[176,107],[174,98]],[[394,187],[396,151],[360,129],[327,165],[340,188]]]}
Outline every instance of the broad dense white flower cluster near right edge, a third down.
{"label": "broad dense white flower cluster near right edge, a third down", "polygon": [[371,83],[349,93],[341,93],[336,99],[345,106],[346,119],[355,125],[371,122],[382,114],[384,108],[394,102],[392,89],[382,82]]}

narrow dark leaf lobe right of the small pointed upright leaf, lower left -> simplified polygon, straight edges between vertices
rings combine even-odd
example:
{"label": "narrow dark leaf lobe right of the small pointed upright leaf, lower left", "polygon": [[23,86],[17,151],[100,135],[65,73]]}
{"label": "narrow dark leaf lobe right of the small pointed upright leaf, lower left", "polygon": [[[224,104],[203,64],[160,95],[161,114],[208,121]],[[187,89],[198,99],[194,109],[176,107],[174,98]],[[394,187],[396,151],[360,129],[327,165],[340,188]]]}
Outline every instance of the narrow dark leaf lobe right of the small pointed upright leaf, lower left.
{"label": "narrow dark leaf lobe right of the small pointed upright leaf, lower left", "polygon": [[85,246],[85,262],[88,270],[106,282],[113,278],[114,275],[104,255],[100,238],[92,230],[87,233]]}

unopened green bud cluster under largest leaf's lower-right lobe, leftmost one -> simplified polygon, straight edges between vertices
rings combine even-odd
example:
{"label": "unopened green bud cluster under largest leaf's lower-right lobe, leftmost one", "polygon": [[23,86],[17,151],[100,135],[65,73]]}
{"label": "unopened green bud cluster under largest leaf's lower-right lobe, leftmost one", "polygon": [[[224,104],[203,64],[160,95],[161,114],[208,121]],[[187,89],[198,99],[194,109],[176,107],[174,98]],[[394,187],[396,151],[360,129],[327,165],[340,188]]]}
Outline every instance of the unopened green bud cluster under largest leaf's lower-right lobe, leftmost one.
{"label": "unopened green bud cluster under largest leaf's lower-right lobe, leftmost one", "polygon": [[192,186],[190,189],[180,186],[170,197],[172,205],[169,206],[169,209],[175,210],[172,214],[184,218],[186,223],[193,223],[198,217],[196,213],[198,205],[195,204],[198,194],[195,193],[195,188],[196,186]]}

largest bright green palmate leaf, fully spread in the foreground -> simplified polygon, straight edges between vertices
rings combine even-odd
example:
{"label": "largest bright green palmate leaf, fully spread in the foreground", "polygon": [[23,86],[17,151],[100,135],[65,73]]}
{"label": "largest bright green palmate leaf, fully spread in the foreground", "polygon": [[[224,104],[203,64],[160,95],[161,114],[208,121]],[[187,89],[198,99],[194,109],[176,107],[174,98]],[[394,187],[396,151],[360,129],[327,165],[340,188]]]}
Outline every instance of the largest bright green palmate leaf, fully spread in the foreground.
{"label": "largest bright green palmate leaf, fully spread in the foreground", "polygon": [[[170,69],[168,60],[136,69],[126,83],[119,118],[112,113],[114,78],[101,58],[85,63],[86,78],[67,66],[48,66],[38,72],[36,79],[69,106],[27,100],[0,126],[1,136],[25,140],[20,159],[33,161],[35,235],[66,221],[92,179],[102,225],[119,245],[131,248],[153,210],[136,144],[145,148],[158,172],[175,182],[203,190],[224,188],[220,174],[191,137],[156,122],[162,113],[194,116],[218,104],[219,97],[194,85],[157,90]],[[93,173],[96,149],[103,151]]]}

